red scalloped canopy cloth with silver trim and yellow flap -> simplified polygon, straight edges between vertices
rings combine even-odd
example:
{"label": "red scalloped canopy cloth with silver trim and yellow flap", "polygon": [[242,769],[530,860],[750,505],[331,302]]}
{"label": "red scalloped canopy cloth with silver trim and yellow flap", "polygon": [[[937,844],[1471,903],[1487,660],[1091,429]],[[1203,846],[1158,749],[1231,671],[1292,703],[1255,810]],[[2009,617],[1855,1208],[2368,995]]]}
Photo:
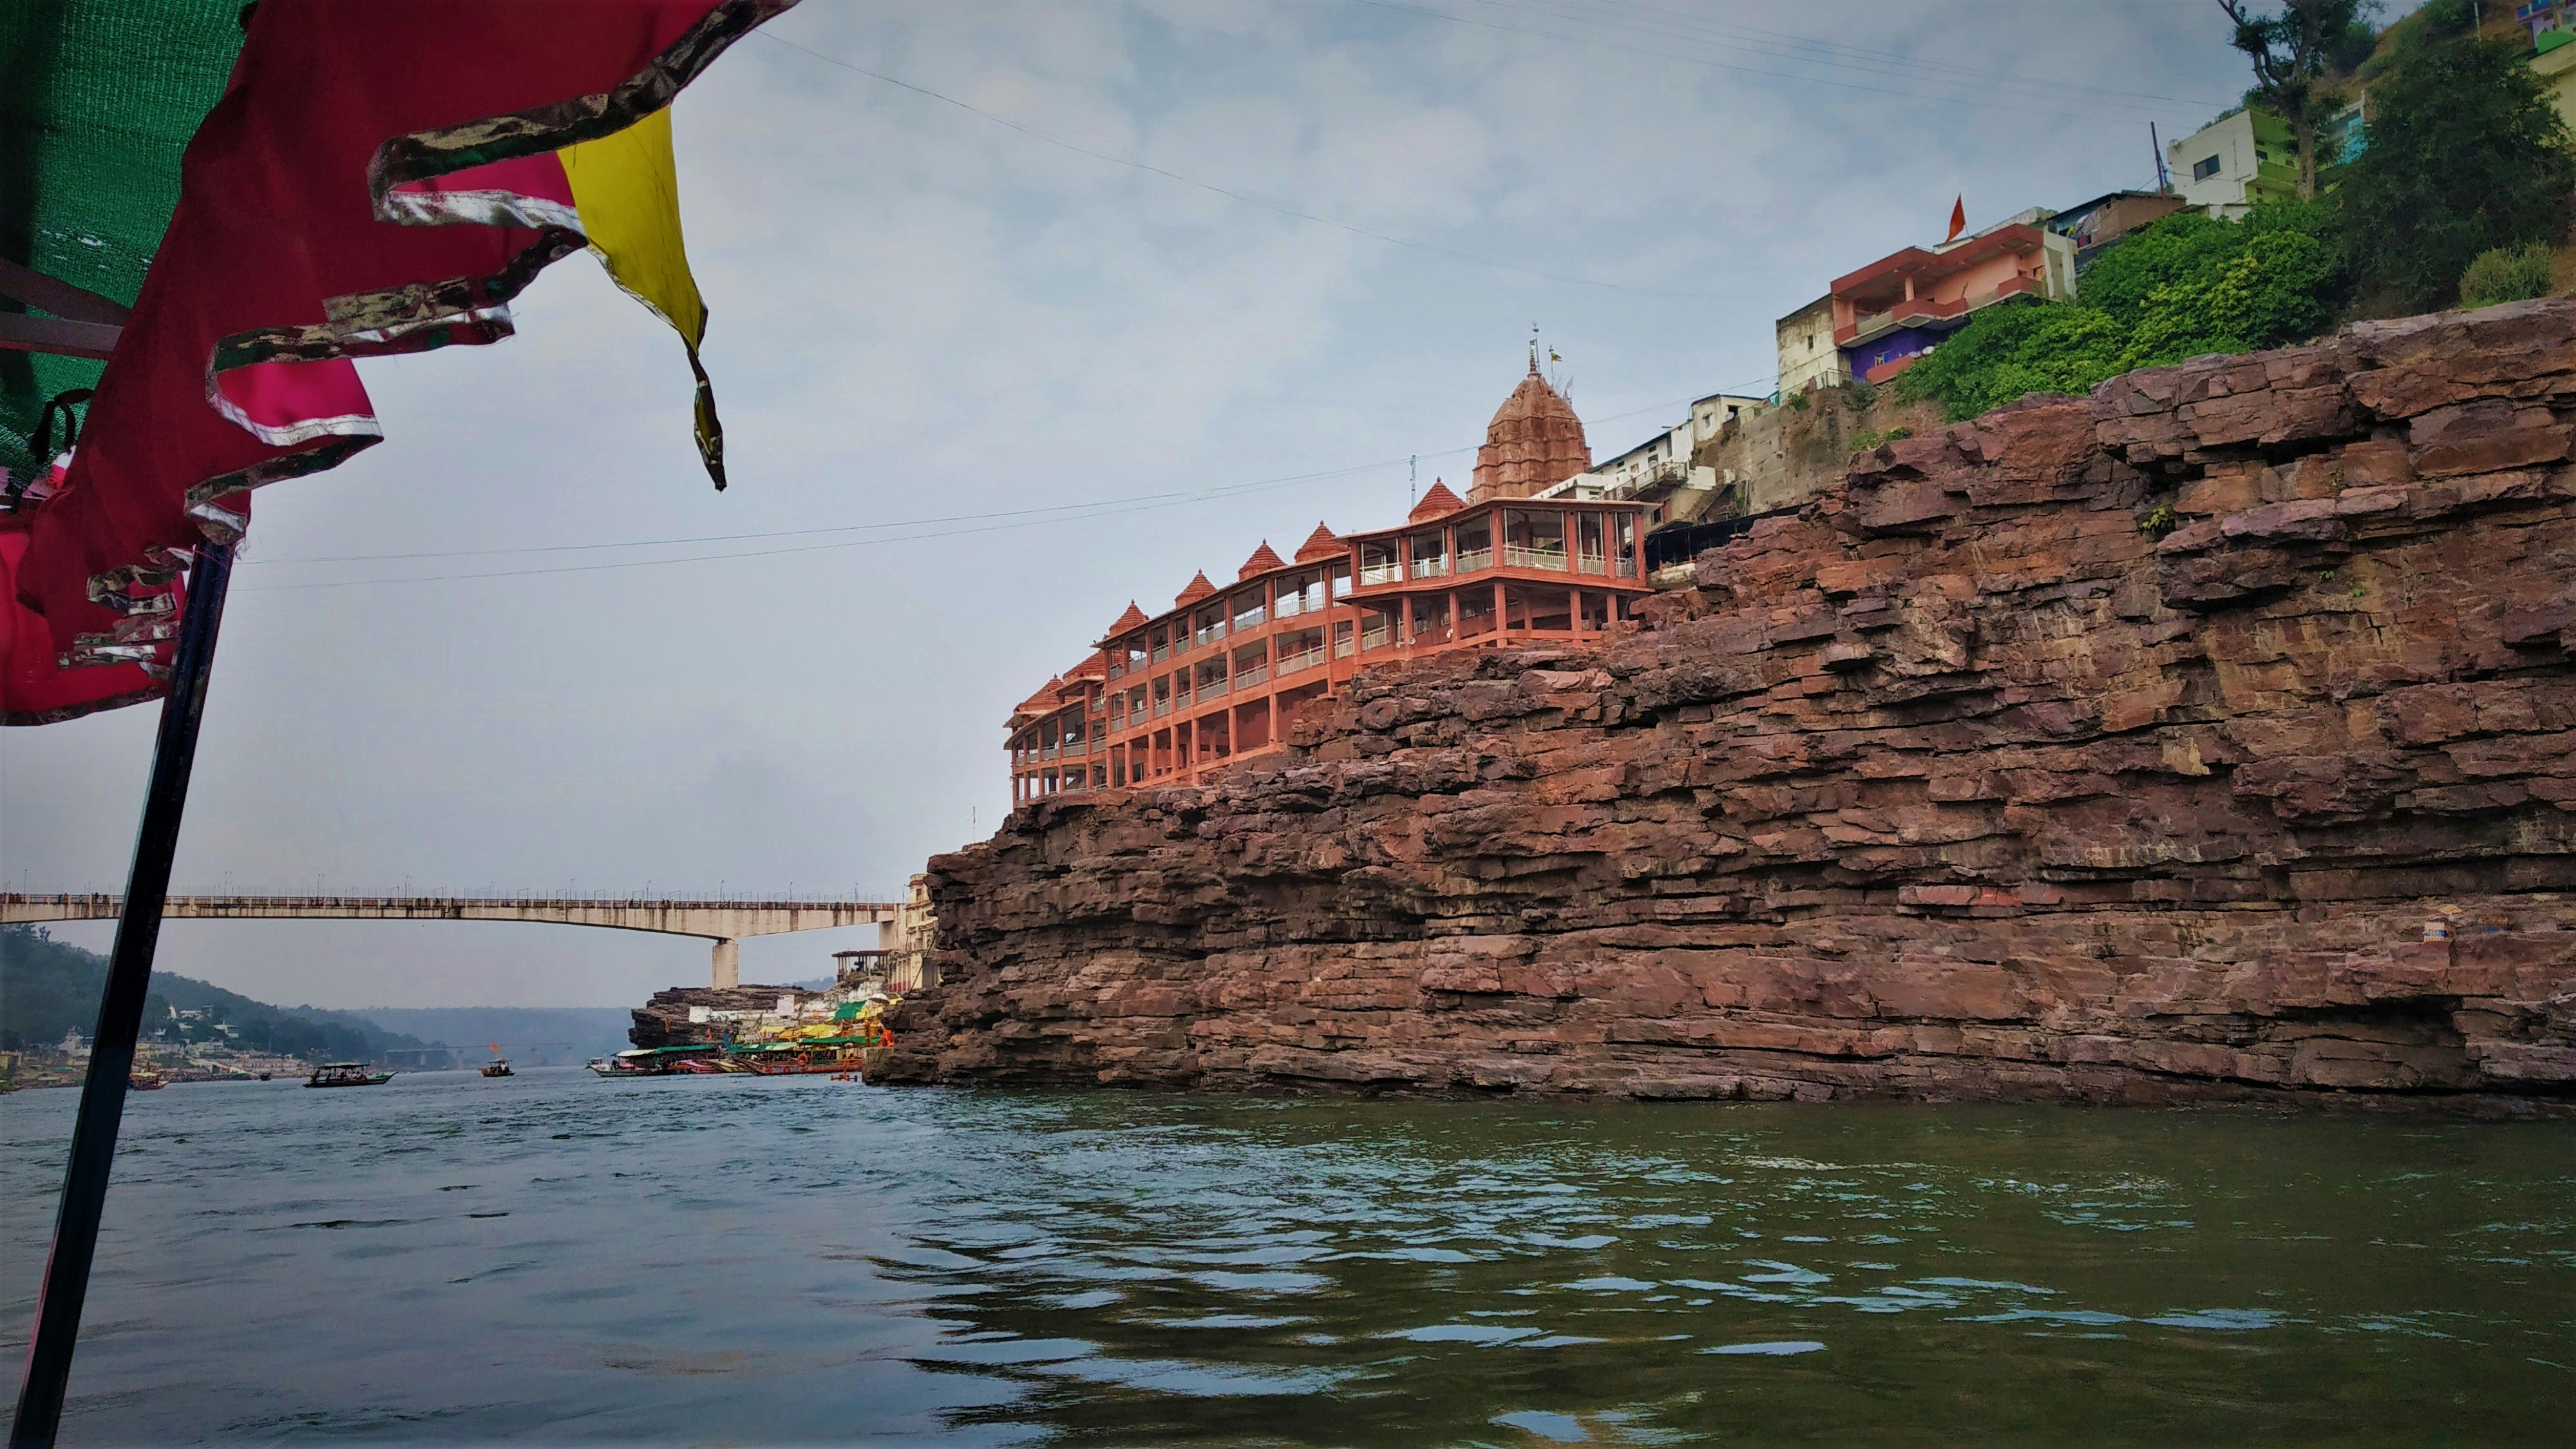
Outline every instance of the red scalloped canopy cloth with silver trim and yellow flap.
{"label": "red scalloped canopy cloth with silver trim and yellow flap", "polygon": [[157,696],[188,549],[381,438],[353,358],[510,335],[595,250],[683,338],[672,98],[796,0],[260,0],[64,469],[0,511],[0,722]]}

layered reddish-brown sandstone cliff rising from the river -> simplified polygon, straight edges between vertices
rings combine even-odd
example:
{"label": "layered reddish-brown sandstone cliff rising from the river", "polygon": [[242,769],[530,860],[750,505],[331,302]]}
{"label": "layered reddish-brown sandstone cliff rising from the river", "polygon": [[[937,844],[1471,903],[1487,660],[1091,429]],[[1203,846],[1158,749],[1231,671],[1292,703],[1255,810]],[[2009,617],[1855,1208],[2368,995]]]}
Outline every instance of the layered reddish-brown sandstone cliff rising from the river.
{"label": "layered reddish-brown sandstone cliff rising from the river", "polygon": [[2576,1101],[2576,304],[1855,459],[1584,652],[933,861],[876,1080]]}

